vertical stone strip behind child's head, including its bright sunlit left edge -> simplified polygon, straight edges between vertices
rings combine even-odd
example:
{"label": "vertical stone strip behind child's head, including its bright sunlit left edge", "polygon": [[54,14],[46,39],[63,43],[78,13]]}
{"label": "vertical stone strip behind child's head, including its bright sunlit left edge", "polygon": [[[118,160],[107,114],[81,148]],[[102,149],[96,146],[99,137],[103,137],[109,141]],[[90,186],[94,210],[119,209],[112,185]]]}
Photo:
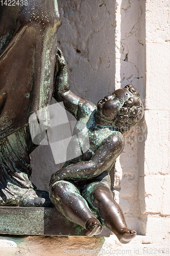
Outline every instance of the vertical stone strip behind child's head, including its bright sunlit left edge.
{"label": "vertical stone strip behind child's head, including its bright sunlit left edge", "polygon": [[[138,89],[143,102],[145,89],[144,4],[145,1],[142,0],[123,0],[115,3],[115,88],[118,89],[131,83]],[[145,124],[140,122],[124,136],[125,148],[116,161],[114,195],[125,212],[129,227],[136,229],[139,234],[144,234],[138,198],[138,148],[139,142],[141,144],[145,139],[141,135],[141,125],[145,129]]]}

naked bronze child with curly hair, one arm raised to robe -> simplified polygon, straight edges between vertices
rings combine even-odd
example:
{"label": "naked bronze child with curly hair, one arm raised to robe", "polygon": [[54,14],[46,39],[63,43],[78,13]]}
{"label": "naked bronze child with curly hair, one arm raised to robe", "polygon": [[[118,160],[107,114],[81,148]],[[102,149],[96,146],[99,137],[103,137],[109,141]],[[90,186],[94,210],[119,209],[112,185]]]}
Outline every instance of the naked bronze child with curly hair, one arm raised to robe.
{"label": "naked bronze child with curly hair, one arm raised to robe", "polygon": [[74,133],[82,134],[80,147],[87,136],[90,146],[52,175],[51,201],[67,219],[85,228],[87,236],[99,234],[105,225],[121,243],[129,243],[136,231],[128,229],[122,209],[113,199],[109,172],[123,151],[123,133],[143,116],[139,93],[128,85],[101,99],[97,107],[79,98],[69,90],[67,65],[60,50],[56,74],[54,97],[76,117]]}

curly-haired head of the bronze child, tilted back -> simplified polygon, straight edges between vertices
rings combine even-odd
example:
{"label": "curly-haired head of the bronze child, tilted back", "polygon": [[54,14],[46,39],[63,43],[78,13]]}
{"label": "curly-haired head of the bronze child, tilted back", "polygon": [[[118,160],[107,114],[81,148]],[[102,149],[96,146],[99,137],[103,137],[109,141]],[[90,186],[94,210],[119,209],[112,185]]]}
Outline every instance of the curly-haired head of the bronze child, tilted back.
{"label": "curly-haired head of the bronze child, tilted back", "polygon": [[98,116],[117,127],[122,133],[130,130],[143,116],[139,92],[128,84],[98,102]]}

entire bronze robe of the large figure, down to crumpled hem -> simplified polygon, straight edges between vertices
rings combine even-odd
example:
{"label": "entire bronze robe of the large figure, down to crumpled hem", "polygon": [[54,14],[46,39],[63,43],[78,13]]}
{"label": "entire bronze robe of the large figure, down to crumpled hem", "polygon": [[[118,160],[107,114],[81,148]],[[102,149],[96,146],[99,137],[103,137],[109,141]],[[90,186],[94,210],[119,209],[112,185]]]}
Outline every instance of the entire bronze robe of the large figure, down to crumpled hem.
{"label": "entire bronze robe of the large figure, down to crumpled hem", "polygon": [[61,18],[57,0],[23,2],[0,9],[0,205],[18,205],[34,191],[29,117],[42,110],[41,125],[50,127],[44,107],[53,94]]}

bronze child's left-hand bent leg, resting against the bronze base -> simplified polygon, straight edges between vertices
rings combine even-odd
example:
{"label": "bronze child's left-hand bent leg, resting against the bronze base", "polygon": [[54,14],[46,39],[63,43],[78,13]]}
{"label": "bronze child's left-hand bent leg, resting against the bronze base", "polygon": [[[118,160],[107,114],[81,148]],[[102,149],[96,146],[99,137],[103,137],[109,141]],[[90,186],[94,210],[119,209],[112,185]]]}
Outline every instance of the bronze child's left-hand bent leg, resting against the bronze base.
{"label": "bronze child's left-hand bent leg, resting against the bronze base", "polygon": [[70,221],[85,228],[86,236],[101,233],[100,222],[80,195],[78,188],[68,181],[57,181],[50,188],[50,199],[54,206]]}

